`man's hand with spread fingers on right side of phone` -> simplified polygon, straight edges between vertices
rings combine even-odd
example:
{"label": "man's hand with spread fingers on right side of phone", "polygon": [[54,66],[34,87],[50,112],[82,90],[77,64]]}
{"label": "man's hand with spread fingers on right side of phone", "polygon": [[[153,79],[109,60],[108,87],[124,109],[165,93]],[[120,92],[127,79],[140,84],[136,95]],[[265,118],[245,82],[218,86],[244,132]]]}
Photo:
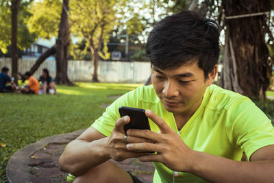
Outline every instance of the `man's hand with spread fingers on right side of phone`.
{"label": "man's hand with spread fingers on right side of phone", "polygon": [[129,151],[157,151],[157,154],[140,156],[140,161],[162,162],[173,171],[188,171],[192,162],[193,150],[190,149],[180,136],[151,110],[146,110],[146,115],[156,125],[160,132],[150,130],[127,130],[128,138],[148,138],[156,143],[129,143]]}

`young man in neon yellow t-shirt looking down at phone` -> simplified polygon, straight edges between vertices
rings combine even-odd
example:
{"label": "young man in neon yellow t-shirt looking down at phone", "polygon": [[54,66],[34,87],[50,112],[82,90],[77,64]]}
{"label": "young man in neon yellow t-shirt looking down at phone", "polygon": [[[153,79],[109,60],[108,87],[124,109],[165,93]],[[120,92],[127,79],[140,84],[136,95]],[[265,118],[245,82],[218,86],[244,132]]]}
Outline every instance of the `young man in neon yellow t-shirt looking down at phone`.
{"label": "young man in neon yellow t-shirt looking down at phone", "polygon": [[[193,12],[167,16],[149,34],[147,56],[152,86],[114,101],[66,146],[60,169],[75,182],[140,182],[108,161],[138,157],[155,165],[153,182],[273,182],[271,121],[247,97],[212,84],[218,25]],[[146,109],[151,131],[125,135],[121,106]]]}

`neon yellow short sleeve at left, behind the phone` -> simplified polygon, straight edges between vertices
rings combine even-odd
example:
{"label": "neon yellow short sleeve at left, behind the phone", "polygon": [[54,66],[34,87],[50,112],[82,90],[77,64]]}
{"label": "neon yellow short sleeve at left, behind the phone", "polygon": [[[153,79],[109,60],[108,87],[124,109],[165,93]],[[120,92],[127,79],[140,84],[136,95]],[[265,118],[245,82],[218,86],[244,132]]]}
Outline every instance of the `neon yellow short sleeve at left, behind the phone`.
{"label": "neon yellow short sleeve at left, behind the phone", "polygon": [[91,126],[104,136],[110,136],[117,119],[121,118],[119,108],[121,106],[128,106],[138,108],[138,88],[116,99],[108,108],[105,109],[103,115],[99,117]]}

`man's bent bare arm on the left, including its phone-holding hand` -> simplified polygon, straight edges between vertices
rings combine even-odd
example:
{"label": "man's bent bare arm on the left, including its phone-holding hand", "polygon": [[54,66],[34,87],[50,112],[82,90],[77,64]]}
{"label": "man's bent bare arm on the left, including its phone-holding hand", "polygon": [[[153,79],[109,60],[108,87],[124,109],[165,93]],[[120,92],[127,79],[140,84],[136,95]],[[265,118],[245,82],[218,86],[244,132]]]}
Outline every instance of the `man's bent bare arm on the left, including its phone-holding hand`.
{"label": "man's bent bare arm on the left, including its phone-holding hand", "polygon": [[[79,176],[110,159],[121,161],[142,156],[143,153],[131,152],[125,147],[123,126],[126,123],[129,123],[129,117],[118,119],[110,137],[105,137],[93,127],[89,127],[66,145],[59,159],[60,169]],[[144,142],[145,138],[134,138],[133,141]]]}

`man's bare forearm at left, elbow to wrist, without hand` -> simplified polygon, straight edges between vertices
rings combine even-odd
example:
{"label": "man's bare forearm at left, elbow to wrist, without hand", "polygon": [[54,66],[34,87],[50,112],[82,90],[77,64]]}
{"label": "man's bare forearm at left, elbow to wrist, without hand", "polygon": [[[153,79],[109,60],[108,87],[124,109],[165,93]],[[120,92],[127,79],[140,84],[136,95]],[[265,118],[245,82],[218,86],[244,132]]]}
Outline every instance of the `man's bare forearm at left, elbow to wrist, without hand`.
{"label": "man's bare forearm at left, elbow to wrist, without hand", "polygon": [[60,169],[79,176],[89,169],[110,159],[105,146],[107,138],[101,138],[90,143],[75,140],[69,143],[59,159]]}

